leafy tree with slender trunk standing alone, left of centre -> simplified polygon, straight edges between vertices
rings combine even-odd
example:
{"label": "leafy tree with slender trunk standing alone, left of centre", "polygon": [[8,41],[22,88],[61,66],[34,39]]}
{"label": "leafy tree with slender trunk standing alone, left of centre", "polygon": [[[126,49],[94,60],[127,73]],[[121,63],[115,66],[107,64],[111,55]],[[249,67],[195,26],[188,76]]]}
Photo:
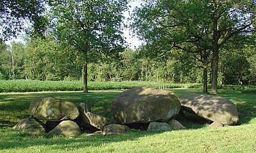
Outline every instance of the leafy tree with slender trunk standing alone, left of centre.
{"label": "leafy tree with slender trunk standing alone, left of centre", "polygon": [[100,53],[115,57],[123,50],[121,25],[127,0],[53,1],[51,10],[56,38],[83,54],[83,91],[87,64]]}

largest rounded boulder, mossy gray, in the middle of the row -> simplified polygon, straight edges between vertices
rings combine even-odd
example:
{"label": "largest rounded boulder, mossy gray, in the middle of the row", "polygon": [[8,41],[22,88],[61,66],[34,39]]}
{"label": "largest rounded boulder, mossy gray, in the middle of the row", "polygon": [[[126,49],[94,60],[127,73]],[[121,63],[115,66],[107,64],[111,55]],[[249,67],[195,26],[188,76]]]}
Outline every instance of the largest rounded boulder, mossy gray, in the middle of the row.
{"label": "largest rounded boulder, mossy gray, in the middle of the row", "polygon": [[136,87],[112,101],[114,120],[120,124],[169,120],[178,114],[180,102],[171,91]]}

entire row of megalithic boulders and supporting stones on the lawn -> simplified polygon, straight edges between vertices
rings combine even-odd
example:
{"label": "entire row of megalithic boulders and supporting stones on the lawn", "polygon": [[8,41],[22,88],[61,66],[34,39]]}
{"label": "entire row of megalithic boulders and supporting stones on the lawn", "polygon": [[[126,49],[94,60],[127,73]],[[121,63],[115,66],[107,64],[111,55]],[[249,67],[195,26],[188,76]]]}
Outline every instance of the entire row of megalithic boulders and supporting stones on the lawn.
{"label": "entire row of megalithic boulders and supporting stones on the lawn", "polygon": [[[103,135],[108,135],[130,131],[129,127],[117,125],[117,123],[128,125],[147,122],[150,123],[147,127],[148,131],[175,129],[168,127],[169,125],[165,122],[178,114],[181,104],[184,110],[197,113],[208,120],[216,122],[221,120],[223,124],[234,124],[238,120],[234,103],[227,99],[197,94],[176,98],[173,92],[148,87],[124,91],[114,99],[112,102],[112,112],[115,121],[92,112],[84,103],[80,103],[80,106],[77,108],[73,103],[55,98],[35,98],[30,104],[29,113],[32,117],[30,117],[30,120],[36,120],[37,122],[40,120],[47,121],[46,129],[49,132],[47,135],[78,135],[81,133],[80,129],[85,129],[85,131],[103,131]],[[162,120],[162,123],[154,122],[157,120]],[[222,125],[221,122],[220,124]],[[26,131],[24,130],[26,124],[21,123],[17,124],[14,129]],[[39,124],[43,125],[42,122],[39,122]],[[27,127],[33,125],[35,124],[30,123]],[[182,127],[180,129],[185,128],[183,126],[180,127]],[[73,132],[74,134],[71,132],[70,135],[65,134],[66,132],[60,132],[65,129],[69,129],[67,131],[77,130]]]}

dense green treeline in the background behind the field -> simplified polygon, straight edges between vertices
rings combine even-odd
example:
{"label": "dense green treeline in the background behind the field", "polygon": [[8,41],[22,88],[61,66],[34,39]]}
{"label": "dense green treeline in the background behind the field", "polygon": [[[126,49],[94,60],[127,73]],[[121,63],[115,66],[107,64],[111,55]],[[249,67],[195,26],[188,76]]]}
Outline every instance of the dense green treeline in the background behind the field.
{"label": "dense green treeline in the background behind the field", "polygon": [[[62,46],[51,36],[25,38],[24,43],[12,42],[11,45],[1,43],[0,54],[0,80],[82,80],[81,53]],[[197,57],[181,50],[153,58],[144,48],[127,48],[115,58],[104,54],[90,57],[89,81],[203,82],[203,69]],[[255,61],[253,45],[223,50],[219,57],[219,84],[255,85]],[[208,71],[210,82],[210,68]]]}

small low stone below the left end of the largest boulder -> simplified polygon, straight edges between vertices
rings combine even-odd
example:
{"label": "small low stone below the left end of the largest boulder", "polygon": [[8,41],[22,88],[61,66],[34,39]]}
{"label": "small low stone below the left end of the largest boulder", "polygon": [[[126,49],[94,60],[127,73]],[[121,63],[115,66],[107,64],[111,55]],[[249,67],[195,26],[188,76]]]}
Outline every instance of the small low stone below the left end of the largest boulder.
{"label": "small low stone below the left end of the largest boulder", "polygon": [[105,126],[102,131],[102,135],[119,135],[131,131],[128,126],[120,124],[110,124]]}

